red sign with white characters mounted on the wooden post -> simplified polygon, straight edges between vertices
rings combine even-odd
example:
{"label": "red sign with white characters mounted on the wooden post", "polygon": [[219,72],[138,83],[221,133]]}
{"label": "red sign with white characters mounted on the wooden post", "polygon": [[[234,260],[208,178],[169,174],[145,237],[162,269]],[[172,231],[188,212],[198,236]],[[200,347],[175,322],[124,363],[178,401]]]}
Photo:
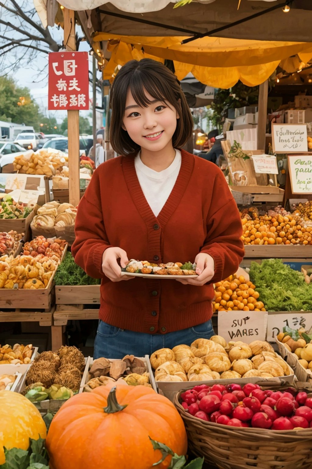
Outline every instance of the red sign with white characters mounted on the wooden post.
{"label": "red sign with white characters mounted on the wooden post", "polygon": [[87,52],[49,53],[48,109],[89,109]]}

